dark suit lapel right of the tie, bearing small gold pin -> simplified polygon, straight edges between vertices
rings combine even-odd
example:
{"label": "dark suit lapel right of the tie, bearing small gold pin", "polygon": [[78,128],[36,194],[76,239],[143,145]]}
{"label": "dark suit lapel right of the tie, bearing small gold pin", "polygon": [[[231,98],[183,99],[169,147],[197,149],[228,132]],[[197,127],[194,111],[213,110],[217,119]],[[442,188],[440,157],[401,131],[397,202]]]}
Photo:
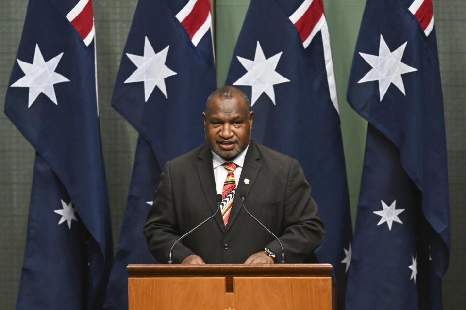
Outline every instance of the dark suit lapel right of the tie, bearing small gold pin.
{"label": "dark suit lapel right of the tie, bearing small gold pin", "polygon": [[[230,218],[228,219],[228,225],[226,233],[229,228],[233,225],[234,220],[238,217],[239,211],[243,207],[241,202],[240,193],[242,190],[246,190],[246,196],[249,194],[251,187],[254,185],[257,174],[261,169],[261,164],[259,162],[260,155],[257,151],[254,141],[250,142],[248,153],[244,158],[243,170],[241,171],[241,176],[236,187],[236,192],[234,194],[234,200],[232,205],[232,211],[230,211]],[[246,180],[247,179],[247,180]],[[246,182],[245,182],[246,180]],[[248,181],[249,180],[249,181]]]}

